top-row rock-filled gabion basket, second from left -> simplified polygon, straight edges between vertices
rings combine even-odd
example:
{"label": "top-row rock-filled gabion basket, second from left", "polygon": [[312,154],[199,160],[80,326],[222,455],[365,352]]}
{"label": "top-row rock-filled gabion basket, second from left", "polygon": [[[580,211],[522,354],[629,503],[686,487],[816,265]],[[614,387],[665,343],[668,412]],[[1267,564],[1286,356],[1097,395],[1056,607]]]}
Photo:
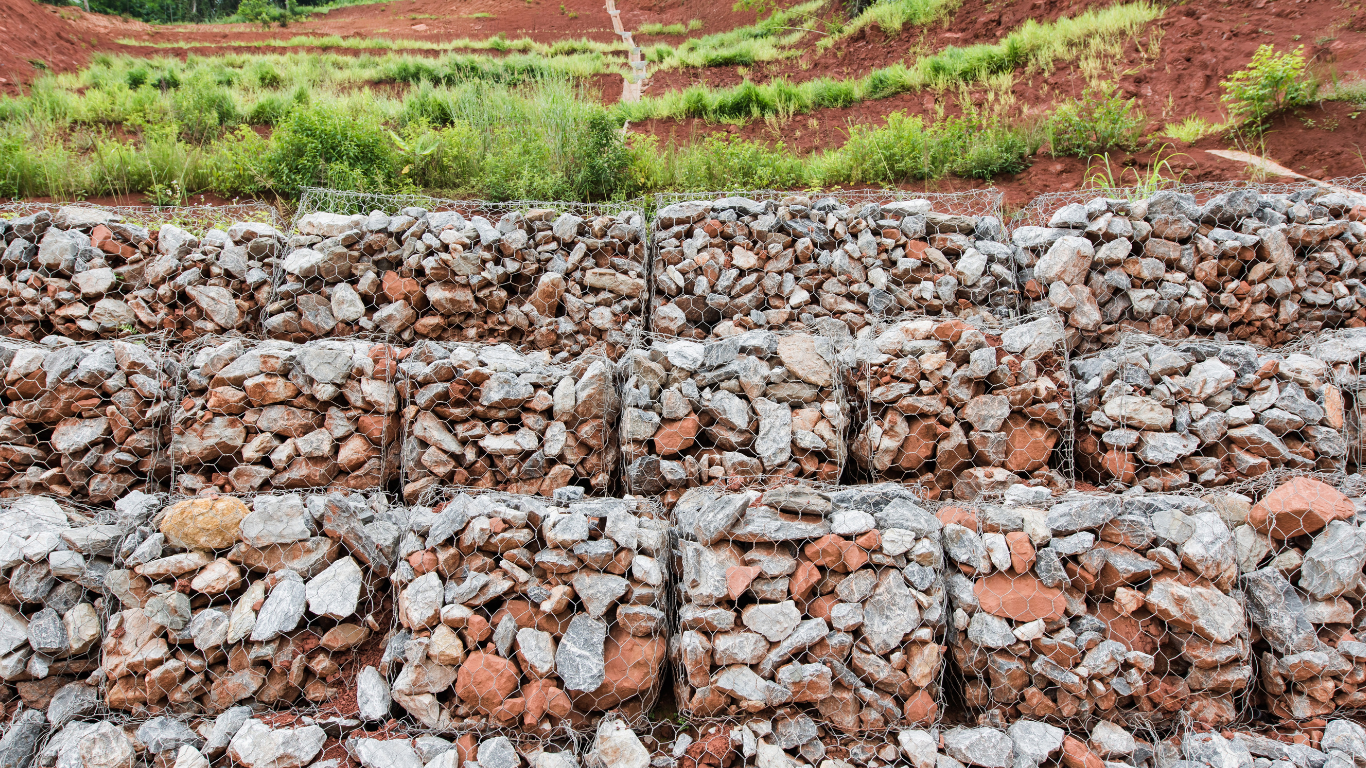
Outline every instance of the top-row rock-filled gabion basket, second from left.
{"label": "top-row rock-filled gabion basket, second from left", "polygon": [[265,332],[507,340],[556,362],[643,328],[643,201],[459,201],[309,189]]}

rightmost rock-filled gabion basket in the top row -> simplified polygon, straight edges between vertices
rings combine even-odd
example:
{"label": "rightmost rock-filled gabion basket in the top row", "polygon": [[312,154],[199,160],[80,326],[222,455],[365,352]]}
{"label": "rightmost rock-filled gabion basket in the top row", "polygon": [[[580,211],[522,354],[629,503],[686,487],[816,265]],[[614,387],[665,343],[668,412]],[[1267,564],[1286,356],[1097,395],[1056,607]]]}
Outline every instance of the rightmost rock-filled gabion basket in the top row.
{"label": "rightmost rock-filled gabion basket in the top row", "polygon": [[1362,193],[1366,176],[1040,195],[1011,227],[1020,307],[1059,307],[1081,353],[1121,331],[1280,346],[1366,320]]}

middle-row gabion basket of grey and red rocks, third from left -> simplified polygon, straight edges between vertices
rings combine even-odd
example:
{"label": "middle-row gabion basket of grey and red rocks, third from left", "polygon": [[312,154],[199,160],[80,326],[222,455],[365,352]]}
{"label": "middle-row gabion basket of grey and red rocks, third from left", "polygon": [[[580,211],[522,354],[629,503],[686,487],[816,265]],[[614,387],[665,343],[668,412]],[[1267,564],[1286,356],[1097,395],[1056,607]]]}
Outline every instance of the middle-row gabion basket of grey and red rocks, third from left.
{"label": "middle-row gabion basket of grey and red rocks, third from left", "polygon": [[404,499],[438,485],[615,491],[620,398],[604,347],[553,365],[548,351],[423,340],[399,372]]}

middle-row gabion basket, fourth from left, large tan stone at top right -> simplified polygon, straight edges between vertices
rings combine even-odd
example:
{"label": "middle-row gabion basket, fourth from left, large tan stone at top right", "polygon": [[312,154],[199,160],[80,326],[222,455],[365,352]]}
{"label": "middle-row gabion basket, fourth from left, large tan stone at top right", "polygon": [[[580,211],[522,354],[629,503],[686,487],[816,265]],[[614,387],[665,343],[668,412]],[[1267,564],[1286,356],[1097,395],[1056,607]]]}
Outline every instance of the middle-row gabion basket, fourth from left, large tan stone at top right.
{"label": "middle-row gabion basket, fourth from left, large tan stone at top right", "polygon": [[694,485],[785,474],[837,482],[848,406],[832,339],[652,333],[617,364],[626,488],[665,506]]}

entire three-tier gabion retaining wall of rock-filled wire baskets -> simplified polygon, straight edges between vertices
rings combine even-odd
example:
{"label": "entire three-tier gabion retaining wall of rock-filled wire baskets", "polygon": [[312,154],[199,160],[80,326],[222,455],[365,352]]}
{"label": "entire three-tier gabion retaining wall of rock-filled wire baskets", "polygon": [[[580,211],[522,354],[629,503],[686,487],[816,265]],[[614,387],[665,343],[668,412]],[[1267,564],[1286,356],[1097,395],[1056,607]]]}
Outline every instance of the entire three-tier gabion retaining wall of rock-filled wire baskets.
{"label": "entire three-tier gabion retaining wall of rock-filled wire baskets", "polygon": [[999,206],[0,219],[0,768],[1359,760],[1366,195]]}

